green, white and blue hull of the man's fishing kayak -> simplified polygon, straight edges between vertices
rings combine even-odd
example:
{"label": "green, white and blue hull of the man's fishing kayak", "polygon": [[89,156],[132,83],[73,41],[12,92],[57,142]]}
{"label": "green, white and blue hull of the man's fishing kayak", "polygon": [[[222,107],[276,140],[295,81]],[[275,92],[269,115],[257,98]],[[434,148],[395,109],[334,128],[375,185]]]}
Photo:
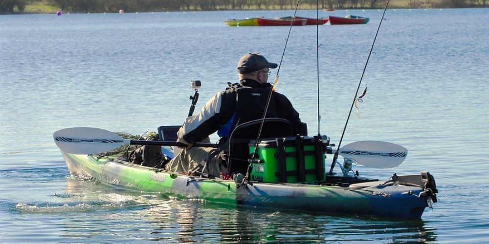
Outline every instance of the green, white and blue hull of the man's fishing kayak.
{"label": "green, white and blue hull of the man's fishing kayak", "polygon": [[[101,155],[63,152],[69,172],[115,186],[161,193],[180,199],[311,211],[330,214],[371,215],[419,219],[436,202],[434,179],[421,175],[393,175],[389,181],[364,177],[326,175],[316,183],[264,183],[194,177],[160,168],[141,166]],[[434,201],[433,201],[434,200]]]}

